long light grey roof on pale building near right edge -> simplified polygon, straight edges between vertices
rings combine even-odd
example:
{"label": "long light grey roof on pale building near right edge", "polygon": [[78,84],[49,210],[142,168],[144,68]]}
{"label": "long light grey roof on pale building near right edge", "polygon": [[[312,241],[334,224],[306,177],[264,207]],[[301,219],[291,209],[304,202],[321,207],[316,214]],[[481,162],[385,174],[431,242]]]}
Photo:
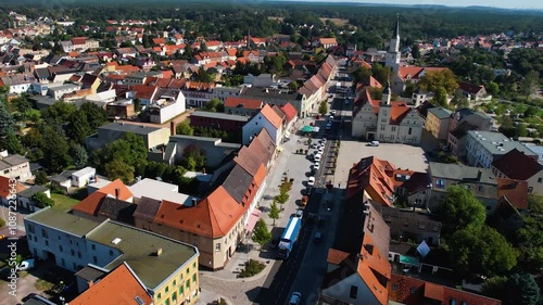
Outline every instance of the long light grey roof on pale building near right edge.
{"label": "long light grey roof on pale building near right edge", "polygon": [[501,132],[469,130],[468,137],[473,138],[492,155],[506,154],[514,149],[523,152],[526,155],[536,155],[522,143],[513,141]]}

